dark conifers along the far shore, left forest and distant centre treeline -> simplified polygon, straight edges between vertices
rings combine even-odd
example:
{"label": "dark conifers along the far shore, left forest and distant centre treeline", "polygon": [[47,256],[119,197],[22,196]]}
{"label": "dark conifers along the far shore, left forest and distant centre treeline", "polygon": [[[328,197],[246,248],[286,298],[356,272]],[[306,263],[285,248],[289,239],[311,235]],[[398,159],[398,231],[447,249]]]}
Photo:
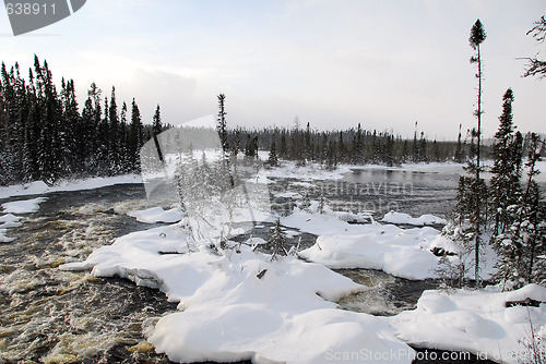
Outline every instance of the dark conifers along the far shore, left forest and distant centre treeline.
{"label": "dark conifers along the far shore, left forest and distant centre treeline", "polygon": [[[81,108],[74,82],[62,78],[58,92],[47,62],[40,63],[36,56],[26,80],[17,63],[8,71],[2,62],[0,72],[0,185],[139,172],[142,145],[169,128],[162,123],[159,106],[152,124],[143,124],[134,98],[130,106],[123,101],[119,108],[116,89],[112,87],[109,97],[103,96],[95,83]],[[293,128],[230,129],[225,119],[225,95],[221,96],[218,135],[223,147],[232,155],[248,157],[270,150],[270,165],[276,165],[277,158],[316,161],[329,168],[339,163],[464,162],[474,155],[475,135],[461,133],[461,128],[454,142],[428,139],[418,132],[417,123],[410,139],[365,130],[360,124],[320,132],[309,123],[301,128],[297,118]],[[482,155],[488,158],[490,148],[483,147]]]}

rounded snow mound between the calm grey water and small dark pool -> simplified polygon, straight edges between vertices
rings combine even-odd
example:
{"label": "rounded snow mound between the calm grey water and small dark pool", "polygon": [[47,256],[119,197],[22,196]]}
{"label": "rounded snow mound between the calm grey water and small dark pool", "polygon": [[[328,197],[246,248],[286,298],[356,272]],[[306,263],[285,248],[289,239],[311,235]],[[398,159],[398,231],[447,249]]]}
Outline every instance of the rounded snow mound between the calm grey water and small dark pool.
{"label": "rounded snow mound between the calm grey water and small dark pool", "polygon": [[435,246],[451,247],[436,229],[401,229],[393,225],[351,225],[332,214],[296,211],[282,218],[290,228],[319,235],[300,256],[330,268],[381,269],[407,279],[435,278]]}

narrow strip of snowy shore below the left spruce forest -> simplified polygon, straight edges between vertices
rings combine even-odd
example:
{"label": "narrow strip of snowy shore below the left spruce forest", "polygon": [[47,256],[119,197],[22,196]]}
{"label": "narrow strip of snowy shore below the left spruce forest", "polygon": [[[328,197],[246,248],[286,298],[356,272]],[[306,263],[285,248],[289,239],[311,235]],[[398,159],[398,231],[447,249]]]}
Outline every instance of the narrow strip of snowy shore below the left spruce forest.
{"label": "narrow strip of snowy shore below the left spruce forest", "polygon": [[108,178],[95,177],[83,180],[61,180],[52,186],[48,186],[41,181],[27,184],[15,184],[0,187],[0,198],[41,195],[62,191],[94,190],[121,183],[142,183],[142,177],[139,174],[126,174]]}

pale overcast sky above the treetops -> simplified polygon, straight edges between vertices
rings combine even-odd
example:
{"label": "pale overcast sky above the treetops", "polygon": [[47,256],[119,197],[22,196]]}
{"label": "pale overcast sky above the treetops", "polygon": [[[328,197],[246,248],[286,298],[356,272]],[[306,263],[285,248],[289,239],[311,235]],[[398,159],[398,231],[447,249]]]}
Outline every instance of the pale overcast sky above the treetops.
{"label": "pale overcast sky above the treetops", "polygon": [[[546,58],[525,33],[544,0],[87,0],[72,16],[13,37],[0,12],[0,60],[46,59],[56,82],[73,78],[79,101],[96,82],[132,97],[144,121],[216,113],[230,126],[389,130],[456,138],[475,123],[470,29],[487,32],[484,131],[492,135],[508,87],[519,129],[546,132],[546,80],[522,78],[518,57]],[[26,75],[26,71],[24,72]]]}

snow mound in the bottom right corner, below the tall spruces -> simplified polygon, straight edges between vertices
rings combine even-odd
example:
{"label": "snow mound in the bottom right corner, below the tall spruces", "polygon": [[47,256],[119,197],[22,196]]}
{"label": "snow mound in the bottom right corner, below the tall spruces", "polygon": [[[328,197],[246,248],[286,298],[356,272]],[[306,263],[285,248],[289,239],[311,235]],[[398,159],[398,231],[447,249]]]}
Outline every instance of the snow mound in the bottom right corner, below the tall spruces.
{"label": "snow mound in the bottom right corner, below the tall spruces", "polygon": [[524,342],[531,339],[531,325],[546,336],[546,304],[539,307],[506,307],[507,301],[526,298],[546,302],[546,288],[526,286],[513,292],[497,287],[458,290],[452,294],[425,291],[415,311],[403,312],[388,320],[397,337],[417,347],[471,351],[479,359],[521,363],[529,359]]}

